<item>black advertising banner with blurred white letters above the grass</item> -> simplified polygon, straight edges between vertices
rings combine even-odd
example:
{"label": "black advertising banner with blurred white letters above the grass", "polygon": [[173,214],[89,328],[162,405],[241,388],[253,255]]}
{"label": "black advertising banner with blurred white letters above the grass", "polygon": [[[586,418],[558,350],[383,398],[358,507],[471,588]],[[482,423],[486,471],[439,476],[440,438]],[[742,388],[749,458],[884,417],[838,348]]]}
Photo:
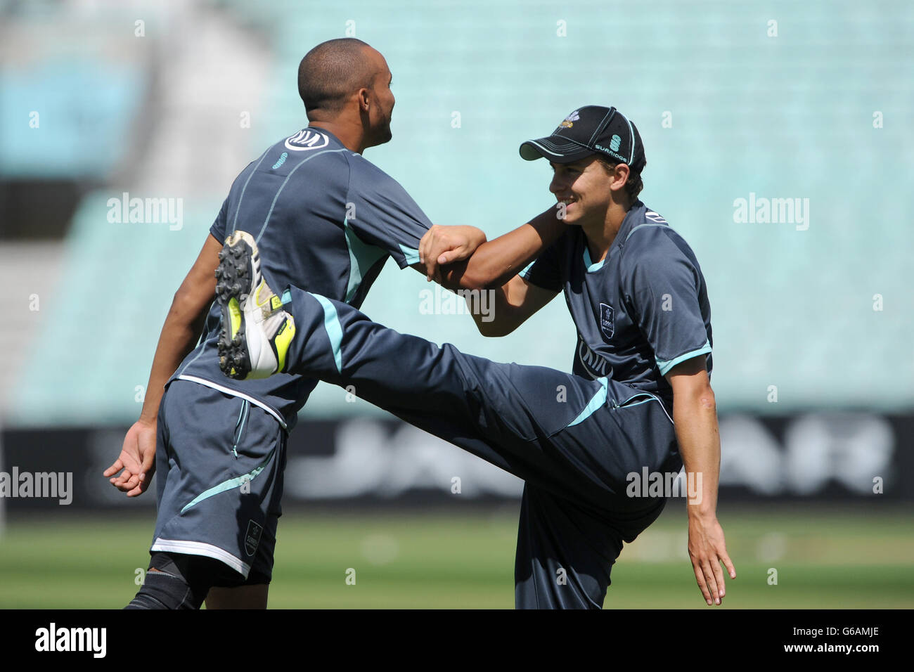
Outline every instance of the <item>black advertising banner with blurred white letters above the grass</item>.
{"label": "black advertising banner with blurred white letters above the grass", "polygon": [[[126,428],[6,429],[0,498],[8,511],[152,507],[127,498],[101,472]],[[728,502],[914,499],[914,415],[810,412],[720,417],[720,498]],[[607,446],[611,450],[611,446]],[[646,487],[649,475],[632,474]],[[686,487],[685,479],[681,486]],[[641,484],[641,485],[639,485]],[[289,439],[284,502],[352,506],[517,499],[522,482],[401,421],[301,421]]]}

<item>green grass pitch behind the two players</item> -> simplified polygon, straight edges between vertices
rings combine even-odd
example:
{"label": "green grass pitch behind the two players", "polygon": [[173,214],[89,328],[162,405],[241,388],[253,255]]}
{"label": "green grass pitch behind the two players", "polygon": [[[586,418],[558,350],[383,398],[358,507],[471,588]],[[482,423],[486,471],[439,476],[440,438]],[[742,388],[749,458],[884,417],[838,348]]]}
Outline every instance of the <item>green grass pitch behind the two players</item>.
{"label": "green grass pitch behind the two players", "polygon": [[[512,608],[516,511],[289,511],[280,520],[271,607]],[[720,608],[914,607],[907,511],[721,507],[720,521],[738,574]],[[122,607],[146,567],[153,524],[152,514],[9,520],[0,537],[0,607]],[[350,569],[355,584],[346,582]],[[604,607],[710,608],[686,559],[681,504],[622,550]]]}

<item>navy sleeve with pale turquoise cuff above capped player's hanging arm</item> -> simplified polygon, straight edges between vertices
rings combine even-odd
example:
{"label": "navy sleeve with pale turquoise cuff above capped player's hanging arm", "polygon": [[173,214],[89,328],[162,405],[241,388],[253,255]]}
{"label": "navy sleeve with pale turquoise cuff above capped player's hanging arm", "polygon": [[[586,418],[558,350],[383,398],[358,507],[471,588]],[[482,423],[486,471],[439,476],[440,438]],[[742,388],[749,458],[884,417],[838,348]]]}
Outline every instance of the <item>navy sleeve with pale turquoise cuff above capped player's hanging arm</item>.
{"label": "navy sleeve with pale turquoise cuff above capped player's hanging arm", "polygon": [[651,227],[636,235],[622,256],[622,287],[665,376],[680,362],[711,352],[699,300],[704,281],[672,239],[675,232]]}

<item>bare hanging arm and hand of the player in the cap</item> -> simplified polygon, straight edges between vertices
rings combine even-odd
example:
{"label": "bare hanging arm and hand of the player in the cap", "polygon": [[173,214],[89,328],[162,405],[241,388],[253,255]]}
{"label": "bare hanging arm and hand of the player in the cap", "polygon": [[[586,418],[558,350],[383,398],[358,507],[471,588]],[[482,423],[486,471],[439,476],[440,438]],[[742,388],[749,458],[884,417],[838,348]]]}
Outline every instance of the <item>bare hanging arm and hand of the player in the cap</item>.
{"label": "bare hanging arm and hand of the player in the cap", "polygon": [[717,405],[707,378],[705,356],[671,368],[673,419],[688,484],[688,553],[698,588],[708,604],[719,604],[726,592],[723,562],[731,579],[737,571],[727,555],[724,530],[717,522],[717,481],[720,475],[720,434]]}

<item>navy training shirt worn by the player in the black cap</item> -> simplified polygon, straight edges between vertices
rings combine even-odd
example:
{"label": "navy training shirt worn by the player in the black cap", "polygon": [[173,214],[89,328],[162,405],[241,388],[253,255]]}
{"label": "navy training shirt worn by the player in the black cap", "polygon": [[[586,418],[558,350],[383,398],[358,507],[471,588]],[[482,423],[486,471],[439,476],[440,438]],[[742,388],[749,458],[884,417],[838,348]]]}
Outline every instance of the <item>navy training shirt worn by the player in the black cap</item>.
{"label": "navy training shirt worn by the player in the black cap", "polygon": [[603,261],[593,263],[587,238],[571,226],[520,272],[528,283],[564,289],[578,328],[572,372],[611,378],[655,392],[673,409],[664,375],[707,354],[711,371],[711,306],[695,253],[641,201],[622,220]]}

